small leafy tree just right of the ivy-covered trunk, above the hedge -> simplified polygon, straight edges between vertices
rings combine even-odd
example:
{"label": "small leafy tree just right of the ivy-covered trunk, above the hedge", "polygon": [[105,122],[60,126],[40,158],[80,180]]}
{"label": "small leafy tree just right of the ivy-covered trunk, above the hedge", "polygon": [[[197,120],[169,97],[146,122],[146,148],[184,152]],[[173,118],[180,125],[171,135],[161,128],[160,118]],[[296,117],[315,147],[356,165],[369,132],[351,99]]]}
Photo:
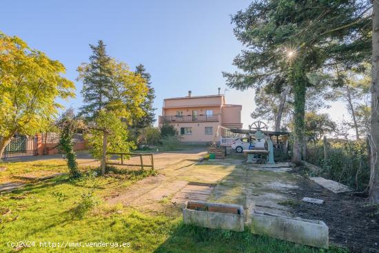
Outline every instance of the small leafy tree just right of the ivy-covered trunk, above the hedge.
{"label": "small leafy tree just right of the ivy-covered trunk, above the hedge", "polygon": [[308,141],[317,143],[325,134],[334,132],[336,127],[336,123],[330,119],[329,114],[305,113],[305,136]]}

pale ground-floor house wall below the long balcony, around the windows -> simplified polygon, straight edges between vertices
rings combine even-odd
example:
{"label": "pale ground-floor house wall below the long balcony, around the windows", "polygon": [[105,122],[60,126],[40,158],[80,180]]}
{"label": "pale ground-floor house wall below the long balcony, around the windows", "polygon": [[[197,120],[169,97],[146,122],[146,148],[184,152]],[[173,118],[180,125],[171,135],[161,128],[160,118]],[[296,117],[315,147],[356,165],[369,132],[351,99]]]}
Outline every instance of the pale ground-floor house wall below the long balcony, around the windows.
{"label": "pale ground-floor house wall below the long balcony, around the windows", "polygon": [[[193,142],[212,142],[214,135],[218,130],[218,122],[189,122],[189,123],[174,123],[174,128],[181,133],[181,128],[192,128],[192,134],[180,134],[181,141]],[[212,127],[212,134],[205,134],[205,127]],[[219,141],[216,139],[216,141]]]}

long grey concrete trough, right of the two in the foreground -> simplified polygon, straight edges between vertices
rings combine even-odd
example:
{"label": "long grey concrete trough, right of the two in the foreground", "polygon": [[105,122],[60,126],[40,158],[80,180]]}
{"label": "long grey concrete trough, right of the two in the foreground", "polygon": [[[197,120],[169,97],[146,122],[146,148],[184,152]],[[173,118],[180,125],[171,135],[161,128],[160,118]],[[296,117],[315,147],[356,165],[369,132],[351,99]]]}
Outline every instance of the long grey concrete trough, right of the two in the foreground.
{"label": "long grey concrete trough, right of the two in the foreground", "polygon": [[253,234],[325,249],[329,247],[329,227],[323,221],[289,218],[253,210],[251,228]]}

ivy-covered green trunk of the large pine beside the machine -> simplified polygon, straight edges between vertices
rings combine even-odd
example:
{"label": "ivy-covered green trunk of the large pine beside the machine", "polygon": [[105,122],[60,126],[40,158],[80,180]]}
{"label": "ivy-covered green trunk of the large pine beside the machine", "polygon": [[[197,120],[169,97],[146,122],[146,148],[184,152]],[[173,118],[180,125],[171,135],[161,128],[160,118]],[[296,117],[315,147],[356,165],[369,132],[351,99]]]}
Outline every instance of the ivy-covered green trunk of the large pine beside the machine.
{"label": "ivy-covered green trunk of the large pine beside the machine", "polygon": [[300,163],[302,160],[304,141],[305,92],[307,91],[305,72],[298,63],[291,73],[291,83],[294,90],[294,148],[292,161]]}

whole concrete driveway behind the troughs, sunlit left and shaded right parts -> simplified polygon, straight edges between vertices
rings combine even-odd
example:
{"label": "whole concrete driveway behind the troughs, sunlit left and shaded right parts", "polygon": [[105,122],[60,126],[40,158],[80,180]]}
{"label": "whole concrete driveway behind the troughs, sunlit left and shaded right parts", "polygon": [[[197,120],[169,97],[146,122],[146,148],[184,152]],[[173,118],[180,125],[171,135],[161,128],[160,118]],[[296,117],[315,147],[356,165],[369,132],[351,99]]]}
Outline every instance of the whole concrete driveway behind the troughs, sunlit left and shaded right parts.
{"label": "whole concrete driveway behind the troughs, sunlit left and shaded right parts", "polygon": [[[126,190],[114,192],[106,200],[140,210],[159,210],[161,203],[167,200],[181,204],[187,198],[243,205],[247,212],[256,209],[289,215],[290,207],[280,203],[288,201],[291,190],[298,188],[298,175],[289,173],[291,168],[285,163],[247,165],[243,160],[243,156],[238,156],[201,163],[181,161],[162,167],[159,176],[143,179]],[[192,182],[216,186],[191,188]]]}

